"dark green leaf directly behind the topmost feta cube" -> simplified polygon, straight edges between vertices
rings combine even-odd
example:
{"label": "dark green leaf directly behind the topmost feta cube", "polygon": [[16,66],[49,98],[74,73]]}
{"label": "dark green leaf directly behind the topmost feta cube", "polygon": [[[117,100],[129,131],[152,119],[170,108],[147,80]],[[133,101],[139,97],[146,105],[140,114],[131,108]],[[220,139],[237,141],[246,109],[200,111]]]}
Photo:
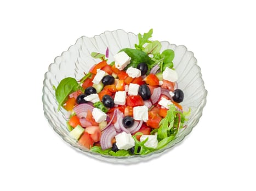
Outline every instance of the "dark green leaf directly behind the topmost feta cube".
{"label": "dark green leaf directly behind the topmost feta cube", "polygon": [[129,67],[134,67],[136,68],[138,64],[140,63],[146,63],[151,65],[152,61],[149,57],[149,55],[147,55],[147,53],[145,53],[142,50],[136,50],[136,49],[122,49],[119,52],[124,51],[127,53],[127,55],[131,58],[131,62],[127,65],[126,69]]}

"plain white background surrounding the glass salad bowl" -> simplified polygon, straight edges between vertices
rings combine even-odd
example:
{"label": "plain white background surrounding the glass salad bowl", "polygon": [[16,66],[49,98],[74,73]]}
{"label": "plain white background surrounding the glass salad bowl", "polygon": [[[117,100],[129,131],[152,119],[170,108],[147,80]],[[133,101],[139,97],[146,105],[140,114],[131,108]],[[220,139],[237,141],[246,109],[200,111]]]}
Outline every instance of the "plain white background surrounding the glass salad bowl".
{"label": "plain white background surrounding the glass salad bowl", "polygon": [[[253,1],[1,1],[0,190],[255,190],[255,12]],[[186,45],[208,90],[191,134],[133,165],[73,150],[41,100],[56,56],[118,28]]]}

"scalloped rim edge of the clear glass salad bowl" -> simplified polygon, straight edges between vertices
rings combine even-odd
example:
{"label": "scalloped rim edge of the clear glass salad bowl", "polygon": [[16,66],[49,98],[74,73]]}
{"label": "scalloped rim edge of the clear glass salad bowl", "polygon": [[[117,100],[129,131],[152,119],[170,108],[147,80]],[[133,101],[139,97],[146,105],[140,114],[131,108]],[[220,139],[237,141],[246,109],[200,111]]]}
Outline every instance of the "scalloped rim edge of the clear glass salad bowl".
{"label": "scalloped rim edge of the clear glass salad bowl", "polygon": [[[136,34],[134,34],[133,32],[126,32],[124,31],[123,29],[117,29],[115,31],[105,31],[104,33],[106,32],[110,32],[110,33],[113,33],[113,32],[116,32],[116,31],[123,31],[127,34],[133,34],[136,36]],[[104,34],[104,33],[101,33],[101,34]],[[146,154],[145,156],[140,156],[140,155],[135,155],[135,156],[127,156],[127,157],[115,157],[115,156],[105,156],[103,154],[99,154],[99,153],[95,153],[95,152],[92,152],[90,150],[87,150],[87,148],[84,148],[84,147],[79,147],[78,144],[76,145],[73,145],[72,142],[69,140],[70,137],[67,137],[67,136],[64,136],[62,135],[59,131],[58,131],[58,127],[54,126],[54,124],[52,123],[52,120],[50,120],[50,118],[48,117],[47,115],[47,111],[45,110],[45,101],[44,101],[44,95],[45,95],[45,91],[44,91],[44,88],[46,85],[45,81],[47,80],[47,74],[50,72],[50,68],[53,66],[53,65],[59,65],[60,63],[57,63],[57,59],[60,58],[60,57],[63,57],[63,55],[66,53],[66,52],[69,52],[71,50],[71,48],[73,46],[75,46],[77,43],[78,43],[78,40],[81,39],[81,38],[95,38],[95,37],[98,37],[100,36],[101,34],[97,34],[97,35],[94,35],[93,37],[86,37],[85,35],[83,35],[82,37],[78,38],[76,40],[76,43],[69,46],[69,49],[67,49],[66,51],[63,51],[61,53],[60,56],[56,56],[54,58],[54,62],[49,64],[49,67],[48,67],[48,71],[44,74],[44,81],[43,81],[43,96],[42,96],[42,102],[43,102],[43,110],[44,110],[44,116],[45,118],[47,118],[47,121],[48,123],[50,124],[50,126],[52,126],[52,128],[54,129],[54,131],[60,135],[60,137],[67,143],[69,144],[72,148],[75,148],[76,151],[79,151],[79,152],[82,152],[84,154],[86,154],[87,156],[89,157],[93,157],[94,159],[99,159],[101,161],[104,161],[104,162],[116,162],[119,163],[119,164],[132,164],[132,163],[138,163],[138,162],[142,162],[142,161],[145,161],[145,160],[150,160],[152,158],[155,158],[155,157],[159,157],[162,155],[162,153],[164,152],[167,152],[167,151],[170,151],[171,148],[173,148],[175,145],[177,145],[179,142],[183,141],[183,139],[190,134],[190,132],[192,131],[192,129],[197,125],[197,123],[199,122],[201,116],[202,116],[202,112],[203,112],[203,108],[204,106],[206,105],[206,97],[207,97],[207,90],[204,86],[204,81],[202,79],[202,74],[201,74],[201,68],[197,65],[197,60],[195,62],[195,65],[196,67],[198,68],[198,75],[200,76],[201,80],[202,80],[202,86],[203,86],[203,98],[202,98],[202,103],[200,104],[200,107],[197,108],[197,111],[195,112],[195,115],[197,114],[197,118],[195,119],[195,122],[192,124],[192,126],[190,126],[190,130],[186,132],[186,134],[184,134],[184,136],[182,136],[179,140],[177,140],[176,138],[172,141],[172,145],[171,146],[166,146],[164,148],[162,148],[161,150],[157,150],[155,152],[152,152],[152,153],[149,153],[149,154]],[[169,41],[160,41],[160,43],[169,43]],[[172,45],[175,45],[175,44],[172,44]],[[177,45],[175,45],[177,47]],[[185,49],[187,50],[186,46],[185,45],[179,45],[179,46],[184,46]],[[188,50],[187,50],[188,51]],[[193,54],[194,56],[194,53],[192,51],[189,51]],[[195,57],[194,57],[195,58]],[[196,59],[196,58],[195,58]]]}

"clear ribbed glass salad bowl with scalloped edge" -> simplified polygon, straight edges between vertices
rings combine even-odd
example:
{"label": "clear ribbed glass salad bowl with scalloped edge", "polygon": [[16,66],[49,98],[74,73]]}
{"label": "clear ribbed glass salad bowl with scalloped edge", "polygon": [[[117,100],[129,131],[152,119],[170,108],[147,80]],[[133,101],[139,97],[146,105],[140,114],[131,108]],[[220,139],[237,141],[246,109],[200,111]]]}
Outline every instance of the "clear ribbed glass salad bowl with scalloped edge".
{"label": "clear ribbed glass salad bowl with scalloped edge", "polygon": [[66,127],[68,113],[63,108],[58,111],[58,102],[55,98],[53,86],[58,86],[59,82],[65,77],[74,77],[77,80],[81,79],[84,76],[83,72],[87,73],[93,64],[99,62],[99,59],[94,59],[90,55],[92,52],[104,53],[107,47],[109,47],[108,62],[111,63],[113,61],[113,55],[123,48],[134,48],[134,44],[138,44],[138,35],[130,32],[127,33],[122,29],[112,32],[106,31],[100,35],[95,35],[93,38],[83,36],[76,41],[76,44],[70,46],[69,50],[63,52],[61,56],[56,57],[54,63],[49,65],[49,70],[45,73],[42,97],[44,116],[47,118],[50,126],[53,127],[62,139],[76,150],[90,157],[115,163],[136,163],[155,158],[167,152],[171,147],[183,140],[191,132],[192,128],[196,126],[202,116],[204,105],[206,105],[207,91],[204,88],[201,69],[197,65],[194,53],[187,51],[184,45],[177,46],[168,43],[168,41],[161,41],[162,48],[160,52],[165,49],[172,49],[175,52],[173,64],[179,75],[177,82],[179,88],[183,90],[185,95],[181,105],[184,108],[191,109],[191,114],[188,116],[189,120],[186,122],[186,128],[183,128],[177,134],[176,138],[169,142],[166,147],[144,156],[104,156],[79,145],[70,136],[69,130]]}

